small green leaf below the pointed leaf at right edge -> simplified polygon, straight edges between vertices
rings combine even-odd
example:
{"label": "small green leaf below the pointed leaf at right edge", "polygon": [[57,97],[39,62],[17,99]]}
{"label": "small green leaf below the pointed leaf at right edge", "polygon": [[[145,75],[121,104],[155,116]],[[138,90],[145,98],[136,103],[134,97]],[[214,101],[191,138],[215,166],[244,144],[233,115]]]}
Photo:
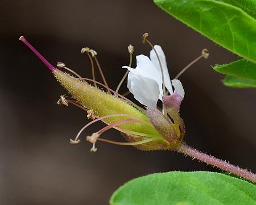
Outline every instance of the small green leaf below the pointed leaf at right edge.
{"label": "small green leaf below the pointed leaf at right edge", "polygon": [[256,81],[253,80],[247,80],[245,78],[237,78],[234,76],[226,76],[226,78],[223,81],[225,86],[229,87],[256,87]]}

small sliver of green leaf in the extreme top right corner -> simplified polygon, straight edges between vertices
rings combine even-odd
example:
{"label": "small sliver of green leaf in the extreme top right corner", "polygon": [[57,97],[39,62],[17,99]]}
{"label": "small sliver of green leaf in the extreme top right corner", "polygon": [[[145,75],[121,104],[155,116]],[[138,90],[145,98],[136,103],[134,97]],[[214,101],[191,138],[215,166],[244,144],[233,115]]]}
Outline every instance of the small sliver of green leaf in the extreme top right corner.
{"label": "small sliver of green leaf in the extreme top right corner", "polygon": [[230,5],[239,7],[247,14],[256,18],[256,1],[255,0],[222,0],[222,2],[229,3]]}

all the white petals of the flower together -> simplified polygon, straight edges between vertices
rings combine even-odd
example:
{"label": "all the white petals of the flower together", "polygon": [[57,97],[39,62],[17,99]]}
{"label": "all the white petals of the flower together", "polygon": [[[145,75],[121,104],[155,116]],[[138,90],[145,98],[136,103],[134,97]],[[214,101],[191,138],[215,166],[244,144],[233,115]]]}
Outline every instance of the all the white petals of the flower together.
{"label": "all the white petals of the flower together", "polygon": [[[154,46],[158,56],[160,58],[163,73],[164,73],[164,85],[170,94],[177,93],[181,98],[184,98],[184,89],[179,80],[170,80],[166,56],[160,45]],[[144,55],[136,56],[137,67],[135,69],[129,66],[123,66],[130,72],[128,74],[127,87],[141,104],[148,108],[156,108],[158,99],[162,101],[163,89],[162,89],[162,74],[158,58],[155,55],[154,50],[150,51],[150,58]],[[174,91],[172,91],[174,86]]]}

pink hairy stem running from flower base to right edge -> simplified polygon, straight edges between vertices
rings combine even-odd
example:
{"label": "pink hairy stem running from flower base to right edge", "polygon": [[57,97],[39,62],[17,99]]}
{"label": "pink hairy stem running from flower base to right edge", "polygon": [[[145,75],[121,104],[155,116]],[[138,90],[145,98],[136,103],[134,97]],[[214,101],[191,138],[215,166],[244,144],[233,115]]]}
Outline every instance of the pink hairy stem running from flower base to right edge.
{"label": "pink hairy stem running from flower base to right edge", "polygon": [[239,175],[240,177],[249,179],[250,181],[256,182],[256,175],[254,173],[247,171],[245,169],[241,169],[238,166],[229,164],[228,162],[219,160],[216,157],[209,156],[208,154],[200,152],[192,147],[189,147],[187,144],[181,144],[180,147],[176,148],[176,151],[186,154],[192,158],[196,158],[199,161],[203,161],[206,164],[216,166],[217,168]]}

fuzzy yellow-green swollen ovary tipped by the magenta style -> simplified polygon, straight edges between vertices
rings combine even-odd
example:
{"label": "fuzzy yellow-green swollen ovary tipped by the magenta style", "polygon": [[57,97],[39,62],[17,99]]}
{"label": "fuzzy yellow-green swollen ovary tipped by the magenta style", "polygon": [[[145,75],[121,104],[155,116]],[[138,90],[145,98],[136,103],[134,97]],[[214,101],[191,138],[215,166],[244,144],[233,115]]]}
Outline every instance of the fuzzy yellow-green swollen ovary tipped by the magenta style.
{"label": "fuzzy yellow-green swollen ovary tipped by the magenta style", "polygon": [[[107,94],[86,82],[82,82],[81,80],[74,78],[67,73],[61,72],[60,70],[54,71],[53,74],[57,78],[57,81],[59,81],[61,85],[65,87],[65,89],[67,89],[75,99],[77,99],[77,101],[79,101],[89,110],[92,110],[97,116],[101,117],[112,114],[127,114],[150,122],[147,116],[137,108],[121,101],[119,98],[114,97],[113,95]],[[106,118],[104,120],[108,123],[115,123],[123,119],[129,118],[125,116],[115,116],[112,118]],[[119,125],[119,127],[125,128],[128,131],[160,136],[156,129],[147,123],[126,123]]]}

